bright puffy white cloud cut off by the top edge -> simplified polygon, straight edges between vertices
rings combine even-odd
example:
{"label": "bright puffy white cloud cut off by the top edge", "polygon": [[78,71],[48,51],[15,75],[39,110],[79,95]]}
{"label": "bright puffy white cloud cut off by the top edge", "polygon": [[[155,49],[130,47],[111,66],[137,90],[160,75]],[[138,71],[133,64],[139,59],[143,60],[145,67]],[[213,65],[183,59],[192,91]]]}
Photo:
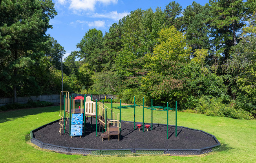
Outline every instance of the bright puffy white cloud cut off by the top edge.
{"label": "bright puffy white cloud cut off by the top edge", "polygon": [[111,3],[116,4],[118,0],[57,0],[59,4],[69,4],[69,9],[73,9],[74,12],[80,11],[94,11],[97,3],[109,5]]}

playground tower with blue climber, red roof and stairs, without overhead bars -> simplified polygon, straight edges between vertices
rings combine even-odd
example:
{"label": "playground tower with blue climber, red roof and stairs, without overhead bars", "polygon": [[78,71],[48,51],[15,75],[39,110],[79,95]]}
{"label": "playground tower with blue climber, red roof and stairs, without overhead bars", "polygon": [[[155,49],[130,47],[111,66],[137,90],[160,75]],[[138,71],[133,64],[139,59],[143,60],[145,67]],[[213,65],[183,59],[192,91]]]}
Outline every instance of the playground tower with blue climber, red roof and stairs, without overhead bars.
{"label": "playground tower with blue climber, red roof and stairs, without overhead bars", "polygon": [[[82,137],[82,130],[86,131],[86,120],[88,116],[91,117],[91,128],[92,128],[92,118],[96,119],[96,136],[97,136],[97,121],[99,121],[100,126],[102,125],[103,129],[105,130],[104,133],[101,134],[101,138],[110,139],[110,135],[120,135],[120,128],[121,123],[119,120],[115,120],[115,113],[112,112],[112,109],[109,109],[103,103],[99,103],[92,101],[92,95],[84,97],[76,96],[71,97],[69,96],[68,91],[60,92],[60,96],[62,97],[62,93],[66,93],[64,95],[64,109],[62,109],[62,98],[60,98],[60,128],[59,132],[60,135],[62,134],[62,130],[66,133],[66,126],[69,120],[69,133],[71,138],[73,136],[80,136]],[[79,100],[79,107],[76,108],[75,101]],[[99,108],[99,109],[98,109]],[[99,112],[99,114],[98,114]],[[97,115],[97,116],[96,116]],[[118,116],[117,116],[118,117]],[[114,119],[113,119],[114,118]],[[84,122],[84,125],[83,125]],[[84,127],[83,127],[84,126]],[[102,130],[103,130],[102,129]]]}

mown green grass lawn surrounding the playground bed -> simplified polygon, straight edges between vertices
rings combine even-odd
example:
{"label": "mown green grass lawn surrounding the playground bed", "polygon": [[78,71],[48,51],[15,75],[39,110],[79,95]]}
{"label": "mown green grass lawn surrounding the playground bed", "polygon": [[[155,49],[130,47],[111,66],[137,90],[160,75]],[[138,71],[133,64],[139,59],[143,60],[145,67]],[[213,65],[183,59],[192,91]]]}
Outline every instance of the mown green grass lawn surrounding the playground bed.
{"label": "mown green grass lawn surrounding the playground bed", "polygon": [[[109,103],[106,105],[110,106]],[[114,106],[118,106],[115,103]],[[40,149],[29,142],[29,133],[46,123],[59,119],[60,107],[20,109],[0,112],[0,162],[256,162],[256,121],[210,117],[203,114],[177,113],[177,125],[204,130],[216,136],[221,149],[199,156],[79,156]],[[114,112],[119,110],[114,109]],[[145,122],[151,122],[151,110],[145,109]],[[154,111],[153,123],[166,123],[166,112]],[[133,121],[133,109],[122,110],[122,120]],[[136,109],[136,121],[142,121],[142,108]],[[175,112],[169,124],[175,124]],[[56,131],[59,132],[59,131]],[[99,141],[101,139],[99,138]]]}

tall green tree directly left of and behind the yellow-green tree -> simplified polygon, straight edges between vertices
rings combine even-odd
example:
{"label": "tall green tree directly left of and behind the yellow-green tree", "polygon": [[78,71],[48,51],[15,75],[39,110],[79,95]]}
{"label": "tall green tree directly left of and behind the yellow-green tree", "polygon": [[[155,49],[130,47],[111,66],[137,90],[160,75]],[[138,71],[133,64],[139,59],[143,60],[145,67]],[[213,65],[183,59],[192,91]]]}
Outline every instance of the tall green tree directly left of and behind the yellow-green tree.
{"label": "tall green tree directly left of and behind the yellow-green tree", "polygon": [[137,9],[122,20],[123,49],[115,59],[118,74],[140,76],[141,72],[137,71],[144,65],[144,55],[153,52],[158,32],[165,26],[164,18],[163,11],[157,8],[155,12],[152,9]]}

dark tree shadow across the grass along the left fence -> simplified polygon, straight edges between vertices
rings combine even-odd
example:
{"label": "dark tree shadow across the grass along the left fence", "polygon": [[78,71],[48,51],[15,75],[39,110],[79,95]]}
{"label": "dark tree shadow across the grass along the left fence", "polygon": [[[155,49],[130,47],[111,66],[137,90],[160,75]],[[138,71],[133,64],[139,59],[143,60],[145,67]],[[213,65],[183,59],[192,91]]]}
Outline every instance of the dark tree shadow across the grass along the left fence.
{"label": "dark tree shadow across the grass along the left fence", "polygon": [[38,107],[38,108],[4,111],[4,112],[0,112],[0,123],[4,123],[6,121],[13,121],[16,118],[24,118],[29,115],[36,115],[43,112],[57,112],[59,110],[60,110],[60,106]]}

